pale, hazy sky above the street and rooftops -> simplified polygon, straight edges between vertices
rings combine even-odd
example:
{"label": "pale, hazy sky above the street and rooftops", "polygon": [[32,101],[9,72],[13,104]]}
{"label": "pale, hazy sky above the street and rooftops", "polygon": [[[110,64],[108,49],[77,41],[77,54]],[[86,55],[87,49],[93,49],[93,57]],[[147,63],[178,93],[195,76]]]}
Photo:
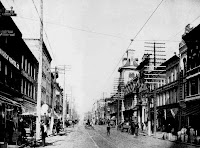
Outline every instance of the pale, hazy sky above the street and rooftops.
{"label": "pale, hazy sky above the street and rooftops", "polygon": [[[40,0],[1,1],[17,13],[13,19],[23,38],[39,38],[35,6],[40,14]],[[51,67],[67,65],[66,92],[75,100],[79,112],[90,110],[103,94],[110,96],[119,77],[120,59],[131,39],[135,38],[129,49],[135,50],[139,62],[146,41],[164,42],[168,59],[178,53],[185,26],[200,23],[199,0],[163,0],[146,24],[161,0],[43,2],[44,40],[53,59]],[[63,78],[61,74],[61,86]]]}

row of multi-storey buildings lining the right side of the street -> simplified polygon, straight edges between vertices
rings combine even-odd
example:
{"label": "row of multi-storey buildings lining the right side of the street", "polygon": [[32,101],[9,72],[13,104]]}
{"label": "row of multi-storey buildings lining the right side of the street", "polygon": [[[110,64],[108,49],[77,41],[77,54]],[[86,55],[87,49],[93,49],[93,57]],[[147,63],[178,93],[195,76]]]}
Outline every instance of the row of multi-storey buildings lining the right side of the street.
{"label": "row of multi-storey buildings lining the right side of the street", "polygon": [[117,89],[111,97],[98,99],[87,116],[96,124],[109,119],[130,127],[134,122],[148,130],[149,136],[166,132],[179,141],[199,144],[199,32],[200,25],[188,24],[179,53],[167,60],[164,52],[158,58],[159,43],[152,43],[153,50],[147,50],[140,63],[134,50],[128,49],[118,69]]}

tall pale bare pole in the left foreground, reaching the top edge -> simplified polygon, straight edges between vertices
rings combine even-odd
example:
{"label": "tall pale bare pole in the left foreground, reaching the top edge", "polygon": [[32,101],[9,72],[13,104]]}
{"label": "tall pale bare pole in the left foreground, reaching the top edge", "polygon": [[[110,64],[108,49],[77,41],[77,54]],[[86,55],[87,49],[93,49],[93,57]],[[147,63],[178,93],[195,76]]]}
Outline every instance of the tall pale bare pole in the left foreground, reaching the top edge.
{"label": "tall pale bare pole in the left foreground, reaching the top edge", "polygon": [[40,139],[41,120],[41,85],[42,85],[42,56],[43,56],[43,0],[40,0],[41,20],[40,20],[40,52],[38,68],[38,88],[37,88],[37,118],[36,118],[36,139]]}

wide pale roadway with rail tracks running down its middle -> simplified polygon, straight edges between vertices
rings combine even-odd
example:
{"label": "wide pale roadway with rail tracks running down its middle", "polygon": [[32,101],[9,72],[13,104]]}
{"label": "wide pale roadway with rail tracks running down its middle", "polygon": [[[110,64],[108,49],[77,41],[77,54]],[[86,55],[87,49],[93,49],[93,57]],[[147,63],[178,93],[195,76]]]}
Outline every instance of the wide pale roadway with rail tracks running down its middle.
{"label": "wide pale roadway with rail tracks running down its middle", "polygon": [[76,125],[74,128],[66,129],[66,135],[47,138],[47,148],[195,148],[183,143],[175,143],[167,140],[161,140],[154,137],[133,136],[128,133],[111,129],[111,135],[107,136],[106,126],[97,125],[94,129],[85,128],[84,125]]}

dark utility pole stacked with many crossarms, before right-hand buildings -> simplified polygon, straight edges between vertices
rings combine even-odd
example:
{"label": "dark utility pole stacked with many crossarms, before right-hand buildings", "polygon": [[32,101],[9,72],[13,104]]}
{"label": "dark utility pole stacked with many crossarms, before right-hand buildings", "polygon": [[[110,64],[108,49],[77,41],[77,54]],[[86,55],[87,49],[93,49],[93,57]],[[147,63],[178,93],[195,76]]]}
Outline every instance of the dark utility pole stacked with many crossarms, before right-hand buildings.
{"label": "dark utility pole stacked with many crossarms, before right-hand buildings", "polygon": [[[165,56],[163,54],[156,54],[156,52],[165,52],[164,50],[159,50],[157,51],[156,49],[157,48],[165,48],[165,47],[157,47],[156,45],[164,45],[165,43],[156,43],[156,42],[145,42],[146,44],[153,44],[153,46],[145,46],[145,47],[149,47],[149,48],[153,48],[153,50],[145,50],[145,51],[151,51],[153,52],[153,62],[151,61],[152,58],[149,58],[149,64],[150,63],[153,63],[153,71],[157,71],[156,69],[160,66],[157,66],[157,65],[160,65],[161,63],[163,63],[166,59],[165,58],[156,58],[156,56]],[[152,54],[150,54],[152,55]],[[150,66],[150,65],[149,65]],[[151,67],[151,66],[150,66]],[[162,70],[161,70],[162,71]],[[152,70],[149,70],[149,72],[152,72]],[[148,77],[149,76],[152,76],[151,74],[147,74]],[[159,74],[153,74],[154,76],[151,77],[151,78],[145,78],[146,80],[147,79],[153,79],[153,80],[159,80],[160,78],[158,78],[157,76],[159,76]],[[156,134],[156,125],[157,125],[157,98],[156,98],[156,84],[158,84],[158,82],[146,82],[146,83],[150,83],[150,84],[153,84],[153,89],[154,89],[154,93],[153,93],[153,107],[154,107],[154,130],[153,130],[153,133]],[[148,116],[149,116],[149,121],[148,121],[148,135],[151,135],[151,109],[150,109],[150,100],[151,97],[148,98]]]}

